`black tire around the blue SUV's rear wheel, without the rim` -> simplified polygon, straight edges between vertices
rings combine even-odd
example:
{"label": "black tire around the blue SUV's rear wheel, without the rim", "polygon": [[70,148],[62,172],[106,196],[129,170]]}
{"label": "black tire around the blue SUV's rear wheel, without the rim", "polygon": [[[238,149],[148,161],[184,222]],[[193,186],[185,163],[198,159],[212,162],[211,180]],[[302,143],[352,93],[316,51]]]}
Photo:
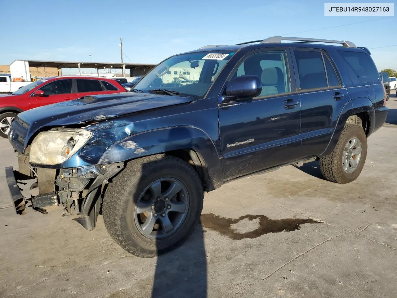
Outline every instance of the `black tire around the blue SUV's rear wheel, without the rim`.
{"label": "black tire around the blue SUV's rear wheel, without the rim", "polygon": [[[361,157],[355,170],[351,173],[343,170],[342,155],[347,142],[357,137],[361,142]],[[355,124],[345,124],[339,140],[331,154],[320,157],[320,170],[326,180],[346,184],[357,179],[367,157],[367,138],[362,127]]]}

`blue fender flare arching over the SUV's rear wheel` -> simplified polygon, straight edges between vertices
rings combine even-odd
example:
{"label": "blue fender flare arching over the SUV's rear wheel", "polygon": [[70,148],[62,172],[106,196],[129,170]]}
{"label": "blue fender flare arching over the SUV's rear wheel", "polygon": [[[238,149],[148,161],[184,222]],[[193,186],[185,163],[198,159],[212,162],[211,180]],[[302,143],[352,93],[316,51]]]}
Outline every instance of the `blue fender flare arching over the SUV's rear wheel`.
{"label": "blue fender flare arching over the SUV's rear wheel", "polygon": [[345,106],[343,106],[342,111],[339,114],[337,124],[335,126],[335,129],[333,130],[330,142],[328,143],[327,148],[324,150],[323,153],[320,154],[322,155],[328,155],[330,154],[333,149],[335,148],[339,137],[342,133],[343,126],[345,126],[345,123],[347,119],[355,114],[361,113],[361,112],[367,112],[369,115],[369,129],[367,136],[370,135],[373,130],[374,130],[374,123],[375,123],[375,111],[374,111],[374,106],[372,104],[372,101],[366,97],[357,97],[355,99],[351,99],[348,101]]}

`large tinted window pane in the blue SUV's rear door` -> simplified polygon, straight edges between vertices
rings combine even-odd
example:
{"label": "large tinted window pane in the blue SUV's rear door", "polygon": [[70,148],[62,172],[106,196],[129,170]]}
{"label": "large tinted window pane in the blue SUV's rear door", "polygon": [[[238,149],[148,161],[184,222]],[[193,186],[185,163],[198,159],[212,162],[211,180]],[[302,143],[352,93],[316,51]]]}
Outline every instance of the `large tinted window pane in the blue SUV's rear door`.
{"label": "large tinted window pane in the blue SUV's rear door", "polygon": [[302,90],[328,87],[321,52],[298,50],[294,54]]}

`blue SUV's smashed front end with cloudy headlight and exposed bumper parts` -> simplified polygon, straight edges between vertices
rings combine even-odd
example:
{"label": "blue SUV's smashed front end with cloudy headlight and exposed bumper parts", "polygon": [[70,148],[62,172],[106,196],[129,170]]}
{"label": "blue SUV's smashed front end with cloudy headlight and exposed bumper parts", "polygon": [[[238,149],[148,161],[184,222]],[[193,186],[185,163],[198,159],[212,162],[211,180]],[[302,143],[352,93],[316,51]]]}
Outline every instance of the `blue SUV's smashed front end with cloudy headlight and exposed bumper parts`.
{"label": "blue SUV's smashed front end with cloudy headlight and exposed bumper parts", "polygon": [[[102,194],[108,180],[124,168],[124,163],[64,167],[70,157],[91,138],[83,130],[56,129],[38,134],[24,153],[18,154],[18,171],[6,169],[10,194],[18,214],[26,213],[26,206],[46,214],[45,207],[63,205],[64,214],[80,215],[75,218],[87,230],[92,230],[102,203]],[[81,162],[73,162],[80,165]],[[83,163],[84,164],[84,163]],[[35,179],[30,189],[39,194],[23,197],[17,180]]]}

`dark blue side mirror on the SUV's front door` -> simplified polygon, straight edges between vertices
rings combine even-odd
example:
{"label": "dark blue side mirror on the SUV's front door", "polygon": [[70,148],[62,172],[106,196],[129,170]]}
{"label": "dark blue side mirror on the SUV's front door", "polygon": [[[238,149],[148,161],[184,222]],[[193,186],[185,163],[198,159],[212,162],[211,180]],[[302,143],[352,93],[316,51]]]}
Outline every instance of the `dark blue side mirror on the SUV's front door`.
{"label": "dark blue side mirror on the SUV's front door", "polygon": [[261,92],[262,83],[257,75],[241,75],[229,82],[225,95],[233,100],[256,97]]}

